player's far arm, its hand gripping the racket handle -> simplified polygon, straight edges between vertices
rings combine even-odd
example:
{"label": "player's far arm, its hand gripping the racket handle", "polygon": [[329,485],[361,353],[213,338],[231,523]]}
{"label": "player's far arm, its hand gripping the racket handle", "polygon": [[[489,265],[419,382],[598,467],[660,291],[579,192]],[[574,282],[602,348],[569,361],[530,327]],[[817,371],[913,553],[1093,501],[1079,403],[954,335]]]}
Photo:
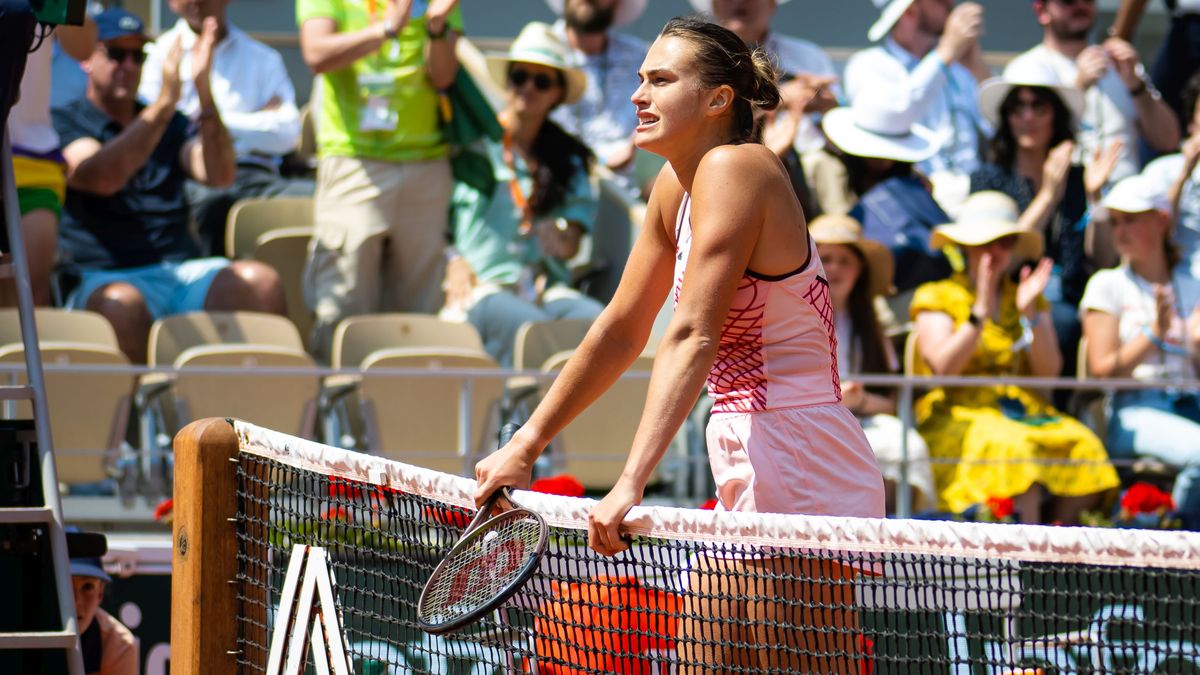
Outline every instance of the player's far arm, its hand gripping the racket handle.
{"label": "player's far arm, its hand gripping the racket handle", "polygon": [[654,318],[671,288],[673,214],[680,195],[679,183],[667,165],[655,180],[646,221],[613,299],[512,441],[475,466],[478,503],[503,485],[528,485],[533,462],[550,441],[600,398],[646,347]]}

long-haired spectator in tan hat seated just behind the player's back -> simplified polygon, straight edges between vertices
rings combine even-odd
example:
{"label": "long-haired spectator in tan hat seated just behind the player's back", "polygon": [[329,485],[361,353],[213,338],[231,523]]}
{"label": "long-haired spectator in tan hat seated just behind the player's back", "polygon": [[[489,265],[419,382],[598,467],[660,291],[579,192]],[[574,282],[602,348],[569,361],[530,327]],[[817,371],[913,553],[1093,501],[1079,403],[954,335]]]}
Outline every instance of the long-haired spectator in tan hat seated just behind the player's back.
{"label": "long-haired spectator in tan hat seated just behind the player's back", "polygon": [[[829,281],[838,333],[838,374],[841,401],[858,418],[875,459],[883,472],[888,509],[895,512],[900,483],[900,443],[904,425],[896,417],[895,390],[878,390],[854,381],[858,374],[894,374],[900,370],[892,342],[883,335],[876,317],[875,298],[892,291],[892,253],[877,241],[864,239],[858,221],[850,216],[820,216],[809,223],[821,265]],[[913,503],[932,507],[937,501],[929,448],[914,429],[908,430],[908,485],[916,491]]]}

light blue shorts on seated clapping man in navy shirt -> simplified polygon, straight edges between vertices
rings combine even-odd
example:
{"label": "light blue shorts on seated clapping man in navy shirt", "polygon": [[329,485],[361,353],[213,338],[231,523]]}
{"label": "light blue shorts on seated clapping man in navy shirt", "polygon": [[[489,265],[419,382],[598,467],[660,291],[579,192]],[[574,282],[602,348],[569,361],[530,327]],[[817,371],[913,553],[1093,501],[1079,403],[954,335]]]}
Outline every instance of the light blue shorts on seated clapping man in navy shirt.
{"label": "light blue shorts on seated clapping man in navy shirt", "polygon": [[145,298],[150,316],[194,312],[204,309],[204,300],[217,273],[229,267],[229,258],[197,258],[181,263],[158,263],[127,269],[91,269],[83,271],[79,287],[67,299],[67,305],[82,310],[88,298],[101,286],[125,282]]}

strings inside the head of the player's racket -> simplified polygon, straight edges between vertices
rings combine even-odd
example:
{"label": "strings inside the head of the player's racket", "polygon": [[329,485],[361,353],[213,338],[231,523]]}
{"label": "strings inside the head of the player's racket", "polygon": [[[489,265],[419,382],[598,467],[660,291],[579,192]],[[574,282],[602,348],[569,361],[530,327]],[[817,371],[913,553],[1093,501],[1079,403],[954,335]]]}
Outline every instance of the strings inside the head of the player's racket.
{"label": "strings inside the head of the player's racket", "polygon": [[422,619],[448,623],[493,601],[538,555],[544,527],[533,514],[509,512],[469,533],[431,579],[420,608]]}

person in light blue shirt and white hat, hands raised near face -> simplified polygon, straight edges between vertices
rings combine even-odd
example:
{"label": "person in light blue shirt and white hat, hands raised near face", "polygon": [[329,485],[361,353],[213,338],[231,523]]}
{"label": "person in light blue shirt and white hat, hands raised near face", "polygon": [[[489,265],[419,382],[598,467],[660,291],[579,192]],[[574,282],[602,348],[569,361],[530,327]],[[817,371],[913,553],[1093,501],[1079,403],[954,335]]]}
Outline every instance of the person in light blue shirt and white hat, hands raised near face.
{"label": "person in light blue shirt and white hat, hands raised near face", "polygon": [[[846,91],[896,91],[913,121],[943,143],[918,168],[934,183],[937,201],[952,209],[967,193],[967,175],[978,168],[980,138],[991,135],[979,114],[978,83],[991,76],[979,37],[983,7],[953,0],[875,0],[880,18],[868,36],[883,44],[854,54],[846,64]],[[904,268],[904,263],[900,263]]]}

